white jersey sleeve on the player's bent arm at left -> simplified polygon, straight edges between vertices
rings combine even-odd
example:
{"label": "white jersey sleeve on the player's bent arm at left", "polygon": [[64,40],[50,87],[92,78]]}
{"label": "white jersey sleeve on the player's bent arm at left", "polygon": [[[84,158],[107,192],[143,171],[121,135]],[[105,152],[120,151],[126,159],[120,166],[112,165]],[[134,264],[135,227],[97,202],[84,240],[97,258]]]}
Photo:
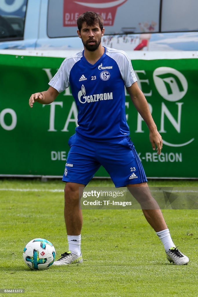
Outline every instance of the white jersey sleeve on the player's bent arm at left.
{"label": "white jersey sleeve on the player's bent arm at left", "polygon": [[50,80],[49,86],[56,89],[59,93],[64,91],[69,86],[67,73],[67,59],[63,61],[55,76]]}

